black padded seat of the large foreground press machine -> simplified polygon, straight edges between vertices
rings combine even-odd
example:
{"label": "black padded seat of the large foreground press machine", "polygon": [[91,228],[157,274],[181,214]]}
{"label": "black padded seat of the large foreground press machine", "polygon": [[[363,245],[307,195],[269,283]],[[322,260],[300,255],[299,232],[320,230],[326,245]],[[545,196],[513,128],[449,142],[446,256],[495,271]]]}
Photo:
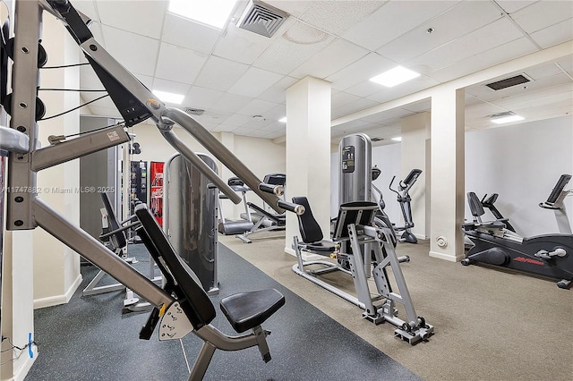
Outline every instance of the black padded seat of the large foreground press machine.
{"label": "black padded seat of the large foreground press machine", "polygon": [[277,290],[240,292],[220,301],[220,307],[237,333],[243,333],[267,320],[285,305],[285,296]]}

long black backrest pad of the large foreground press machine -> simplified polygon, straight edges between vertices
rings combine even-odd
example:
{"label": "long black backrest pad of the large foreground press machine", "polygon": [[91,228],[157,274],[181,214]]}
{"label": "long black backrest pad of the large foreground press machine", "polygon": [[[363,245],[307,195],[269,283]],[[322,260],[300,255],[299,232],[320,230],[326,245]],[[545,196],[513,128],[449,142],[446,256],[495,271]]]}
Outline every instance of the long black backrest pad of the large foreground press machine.
{"label": "long black backrest pad of the large foreground press machine", "polygon": [[169,273],[175,278],[175,294],[178,298],[186,300],[182,301],[181,307],[192,326],[199,329],[210,324],[217,312],[207,292],[203,290],[201,284],[194,281],[191,268],[186,266],[183,259],[175,253],[147,205],[140,204],[135,207],[135,215],[139,218],[145,233],[149,235],[150,241],[147,245],[151,246],[148,246],[150,254],[159,257],[154,258],[157,263],[163,260]]}

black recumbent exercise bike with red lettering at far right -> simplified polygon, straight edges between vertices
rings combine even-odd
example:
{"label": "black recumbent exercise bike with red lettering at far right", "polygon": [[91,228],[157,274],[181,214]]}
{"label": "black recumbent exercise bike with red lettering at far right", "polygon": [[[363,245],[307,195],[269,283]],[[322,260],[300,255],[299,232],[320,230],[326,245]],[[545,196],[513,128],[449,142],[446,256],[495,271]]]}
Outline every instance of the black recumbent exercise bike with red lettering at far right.
{"label": "black recumbent exercise bike with red lettering at far right", "polygon": [[[564,212],[562,201],[569,193],[563,190],[571,175],[563,174],[543,207]],[[525,273],[560,279],[557,285],[568,289],[573,281],[573,234],[543,234],[520,237],[507,229],[503,220],[483,223],[483,205],[474,192],[467,193],[473,223],[463,224],[466,236],[475,246],[467,252],[461,263],[475,262],[508,267]],[[568,222],[569,224],[569,222]]]}

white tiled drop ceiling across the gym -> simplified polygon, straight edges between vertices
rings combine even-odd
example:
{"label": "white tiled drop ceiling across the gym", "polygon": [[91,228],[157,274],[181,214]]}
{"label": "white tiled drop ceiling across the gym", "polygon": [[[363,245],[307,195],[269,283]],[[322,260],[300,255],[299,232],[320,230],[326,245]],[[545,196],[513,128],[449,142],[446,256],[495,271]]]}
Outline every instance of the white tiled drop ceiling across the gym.
{"label": "white tiled drop ceiling across the gym", "polygon": [[[196,119],[210,131],[280,140],[286,89],[311,75],[331,82],[332,120],[344,120],[333,123],[333,144],[354,132],[384,144],[399,135],[400,118],[429,111],[430,100],[347,116],[560,44],[569,44],[569,55],[467,86],[466,129],[492,127],[488,116],[507,111],[526,121],[573,112],[571,1],[267,0],[289,13],[271,38],[237,27],[246,1],[223,30],[167,12],[164,0],[72,3],[147,87],[185,94],[180,107],[205,110]],[[369,80],[397,64],[422,75],[390,89]],[[484,86],[517,74],[531,81],[498,91]],[[81,88],[101,89],[90,67],[81,68]],[[119,117],[109,98],[89,107]]]}

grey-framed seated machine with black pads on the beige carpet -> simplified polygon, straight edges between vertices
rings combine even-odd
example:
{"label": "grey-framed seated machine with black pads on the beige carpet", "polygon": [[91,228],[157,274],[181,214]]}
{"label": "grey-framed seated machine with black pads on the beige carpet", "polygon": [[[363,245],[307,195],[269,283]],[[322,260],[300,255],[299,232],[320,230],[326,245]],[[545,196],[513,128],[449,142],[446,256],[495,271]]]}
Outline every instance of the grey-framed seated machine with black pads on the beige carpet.
{"label": "grey-framed seated machine with black pads on the beige carpet", "polygon": [[[303,215],[298,216],[302,241],[299,241],[297,236],[293,239],[293,249],[296,254],[293,271],[296,274],[360,307],[364,310],[363,318],[372,323],[380,324],[388,321],[397,326],[394,334],[410,344],[426,340],[432,335],[433,326],[426,324],[425,319],[418,317],[415,313],[414,303],[410,298],[406,279],[399,265],[400,259],[394,250],[391,228],[376,226],[373,222],[378,204],[370,201],[342,204],[338,211],[333,241],[327,241],[323,239],[321,227],[312,216],[308,199],[295,197],[293,202],[302,205],[305,210]],[[347,263],[349,269],[333,261],[305,261],[303,253],[338,259],[341,263]],[[317,265],[321,268],[304,268]],[[392,291],[387,267],[392,270],[399,293]],[[328,284],[319,277],[319,275],[334,271],[341,271],[353,277],[356,297]],[[368,285],[370,276],[374,279],[378,293],[373,298]],[[406,309],[406,321],[398,318],[398,310],[395,307],[397,302]]]}

